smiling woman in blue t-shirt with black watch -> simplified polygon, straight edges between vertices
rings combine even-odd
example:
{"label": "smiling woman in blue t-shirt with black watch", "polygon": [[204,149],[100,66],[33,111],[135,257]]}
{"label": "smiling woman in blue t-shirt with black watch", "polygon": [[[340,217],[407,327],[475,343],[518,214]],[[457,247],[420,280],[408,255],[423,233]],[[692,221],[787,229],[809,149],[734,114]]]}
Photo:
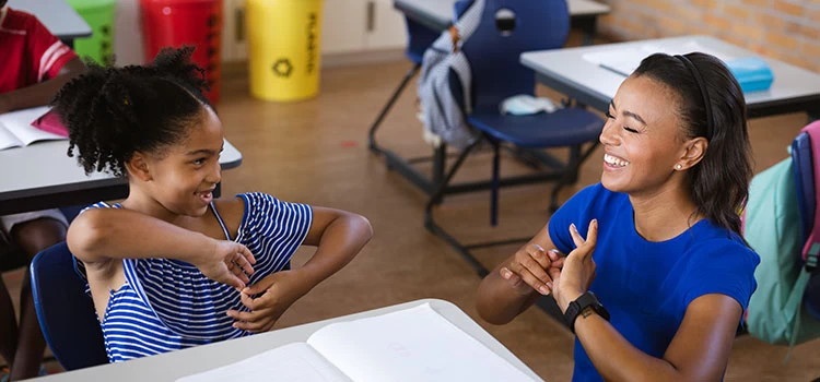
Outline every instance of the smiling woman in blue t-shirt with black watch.
{"label": "smiling woman in blue t-shirt with black watch", "polygon": [[479,313],[506,323],[552,294],[575,381],[719,381],[759,263],[737,214],[751,178],[740,86],[712,56],[653,55],[607,117],[601,182],[484,278]]}

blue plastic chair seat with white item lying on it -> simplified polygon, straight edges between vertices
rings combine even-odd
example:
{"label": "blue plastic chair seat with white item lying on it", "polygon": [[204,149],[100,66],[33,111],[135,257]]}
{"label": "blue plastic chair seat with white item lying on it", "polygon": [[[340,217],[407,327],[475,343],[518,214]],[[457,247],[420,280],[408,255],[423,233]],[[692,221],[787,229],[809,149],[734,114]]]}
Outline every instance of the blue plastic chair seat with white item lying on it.
{"label": "blue plastic chair seat with white item lying on it", "polygon": [[532,116],[504,116],[497,110],[473,112],[467,120],[497,141],[519,147],[559,147],[596,141],[604,122],[579,108]]}

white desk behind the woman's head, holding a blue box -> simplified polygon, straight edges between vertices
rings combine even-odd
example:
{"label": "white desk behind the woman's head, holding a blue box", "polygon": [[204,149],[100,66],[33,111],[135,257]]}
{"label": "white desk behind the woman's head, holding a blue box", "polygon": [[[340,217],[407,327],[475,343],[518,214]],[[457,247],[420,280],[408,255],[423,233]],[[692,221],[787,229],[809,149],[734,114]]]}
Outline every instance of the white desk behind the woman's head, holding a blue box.
{"label": "white desk behind the woman's head, holding a blue box", "polygon": [[[583,55],[617,49],[642,49],[646,45],[679,47],[690,41],[710,51],[724,52],[734,58],[759,56],[714,37],[682,36],[526,52],[522,55],[520,61],[525,67],[536,71],[538,82],[582,104],[606,111],[609,100],[625,77],[585,60]],[[804,111],[809,114],[810,118],[820,118],[820,74],[775,59],[761,58],[774,72],[774,82],[768,91],[745,94],[749,117]]]}

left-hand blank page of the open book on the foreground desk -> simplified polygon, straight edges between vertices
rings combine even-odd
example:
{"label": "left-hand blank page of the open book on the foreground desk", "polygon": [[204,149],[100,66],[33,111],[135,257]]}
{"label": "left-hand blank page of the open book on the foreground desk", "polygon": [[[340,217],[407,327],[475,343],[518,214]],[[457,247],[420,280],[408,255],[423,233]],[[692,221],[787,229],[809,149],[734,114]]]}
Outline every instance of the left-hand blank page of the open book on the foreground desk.
{"label": "left-hand blank page of the open book on the foreground desk", "polygon": [[351,382],[305,343],[293,343],[176,382]]}

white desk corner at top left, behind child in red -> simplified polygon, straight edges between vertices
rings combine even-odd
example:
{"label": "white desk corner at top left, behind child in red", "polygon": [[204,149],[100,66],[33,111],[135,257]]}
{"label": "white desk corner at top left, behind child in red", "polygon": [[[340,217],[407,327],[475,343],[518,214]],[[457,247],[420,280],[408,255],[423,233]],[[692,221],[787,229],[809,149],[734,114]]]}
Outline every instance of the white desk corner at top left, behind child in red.
{"label": "white desk corner at top left, behind child in red", "polygon": [[91,26],[66,0],[9,0],[9,7],[34,14],[57,38],[73,44],[91,36]]}

